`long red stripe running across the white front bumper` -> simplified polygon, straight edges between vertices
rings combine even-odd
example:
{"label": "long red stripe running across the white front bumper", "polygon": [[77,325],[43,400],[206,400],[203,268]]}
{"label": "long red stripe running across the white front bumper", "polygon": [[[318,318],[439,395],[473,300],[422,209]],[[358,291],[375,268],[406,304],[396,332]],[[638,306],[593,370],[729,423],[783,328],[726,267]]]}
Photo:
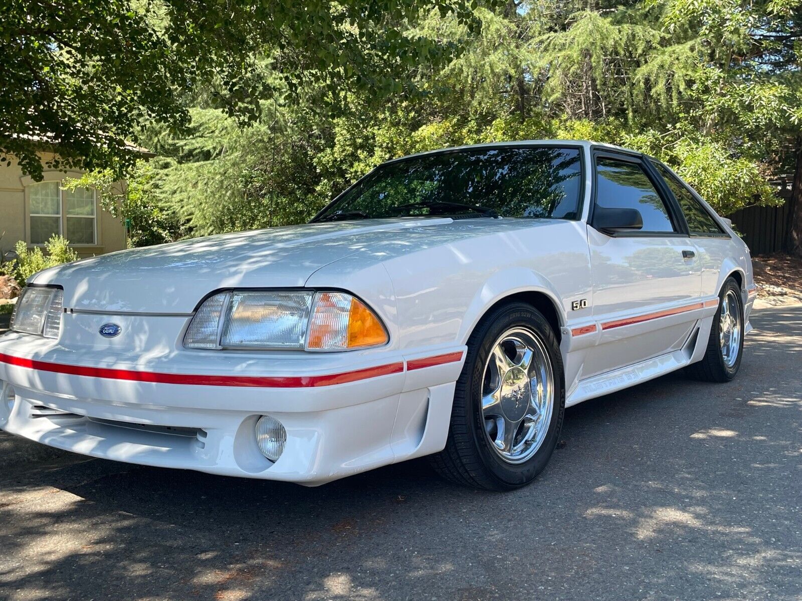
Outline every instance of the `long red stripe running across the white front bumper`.
{"label": "long red stripe running across the white front bumper", "polygon": [[84,367],[81,365],[62,365],[48,361],[23,359],[0,353],[0,361],[16,367],[38,369],[51,373],[67,373],[72,376],[103,377],[111,380],[155,382],[158,384],[184,384],[202,386],[244,386],[249,388],[314,388],[345,384],[370,377],[387,376],[403,372],[403,361],[377,365],[350,372],[328,373],[321,376],[209,376],[201,374],[142,372],[130,369],[107,369],[103,367]]}

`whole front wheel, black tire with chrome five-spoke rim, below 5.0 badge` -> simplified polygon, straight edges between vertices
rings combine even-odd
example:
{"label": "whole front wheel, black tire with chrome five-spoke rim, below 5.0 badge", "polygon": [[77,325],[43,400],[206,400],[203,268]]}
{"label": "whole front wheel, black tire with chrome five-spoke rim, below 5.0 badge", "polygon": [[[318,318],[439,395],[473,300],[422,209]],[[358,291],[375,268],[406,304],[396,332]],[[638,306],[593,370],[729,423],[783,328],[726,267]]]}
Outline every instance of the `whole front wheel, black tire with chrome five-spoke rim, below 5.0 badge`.
{"label": "whole front wheel, black tire with chrome five-spoke rim, below 5.0 badge", "polygon": [[549,462],[564,414],[562,357],[549,322],[531,305],[503,305],[468,339],[448,441],[431,463],[465,486],[525,486]]}

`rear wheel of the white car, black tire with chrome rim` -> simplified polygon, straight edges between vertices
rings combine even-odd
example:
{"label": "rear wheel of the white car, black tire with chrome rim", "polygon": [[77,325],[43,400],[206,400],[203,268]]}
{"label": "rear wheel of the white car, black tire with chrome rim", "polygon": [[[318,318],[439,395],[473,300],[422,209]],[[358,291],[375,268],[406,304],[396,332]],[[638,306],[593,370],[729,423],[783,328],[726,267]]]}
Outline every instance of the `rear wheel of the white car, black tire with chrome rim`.
{"label": "rear wheel of the white car, black tire with chrome rim", "polygon": [[688,372],[698,380],[728,382],[735,377],[743,355],[743,297],[735,278],[729,277],[719,292],[719,310],[713,317],[702,361]]}

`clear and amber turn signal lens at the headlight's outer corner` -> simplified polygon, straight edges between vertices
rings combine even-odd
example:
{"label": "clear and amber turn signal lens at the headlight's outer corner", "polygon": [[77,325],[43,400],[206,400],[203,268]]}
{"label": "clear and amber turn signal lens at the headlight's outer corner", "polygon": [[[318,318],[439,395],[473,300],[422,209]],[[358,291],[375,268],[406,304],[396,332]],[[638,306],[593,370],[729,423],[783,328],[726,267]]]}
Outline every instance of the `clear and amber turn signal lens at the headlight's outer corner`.
{"label": "clear and amber turn signal lens at the headlight's outer corner", "polygon": [[379,317],[345,292],[318,292],[310,318],[306,349],[364,349],[387,343]]}

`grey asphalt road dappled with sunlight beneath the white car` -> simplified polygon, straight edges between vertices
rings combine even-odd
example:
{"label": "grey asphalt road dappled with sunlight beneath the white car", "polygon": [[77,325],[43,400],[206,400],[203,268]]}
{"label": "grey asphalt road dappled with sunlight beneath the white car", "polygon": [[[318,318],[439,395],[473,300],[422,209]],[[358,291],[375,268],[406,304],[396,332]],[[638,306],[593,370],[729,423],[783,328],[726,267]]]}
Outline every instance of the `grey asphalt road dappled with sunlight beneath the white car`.
{"label": "grey asphalt road dappled with sunlight beneath the white car", "polygon": [[735,381],[569,409],[507,494],[423,461],[307,489],[2,439],[0,599],[802,599],[802,307],[753,321]]}

